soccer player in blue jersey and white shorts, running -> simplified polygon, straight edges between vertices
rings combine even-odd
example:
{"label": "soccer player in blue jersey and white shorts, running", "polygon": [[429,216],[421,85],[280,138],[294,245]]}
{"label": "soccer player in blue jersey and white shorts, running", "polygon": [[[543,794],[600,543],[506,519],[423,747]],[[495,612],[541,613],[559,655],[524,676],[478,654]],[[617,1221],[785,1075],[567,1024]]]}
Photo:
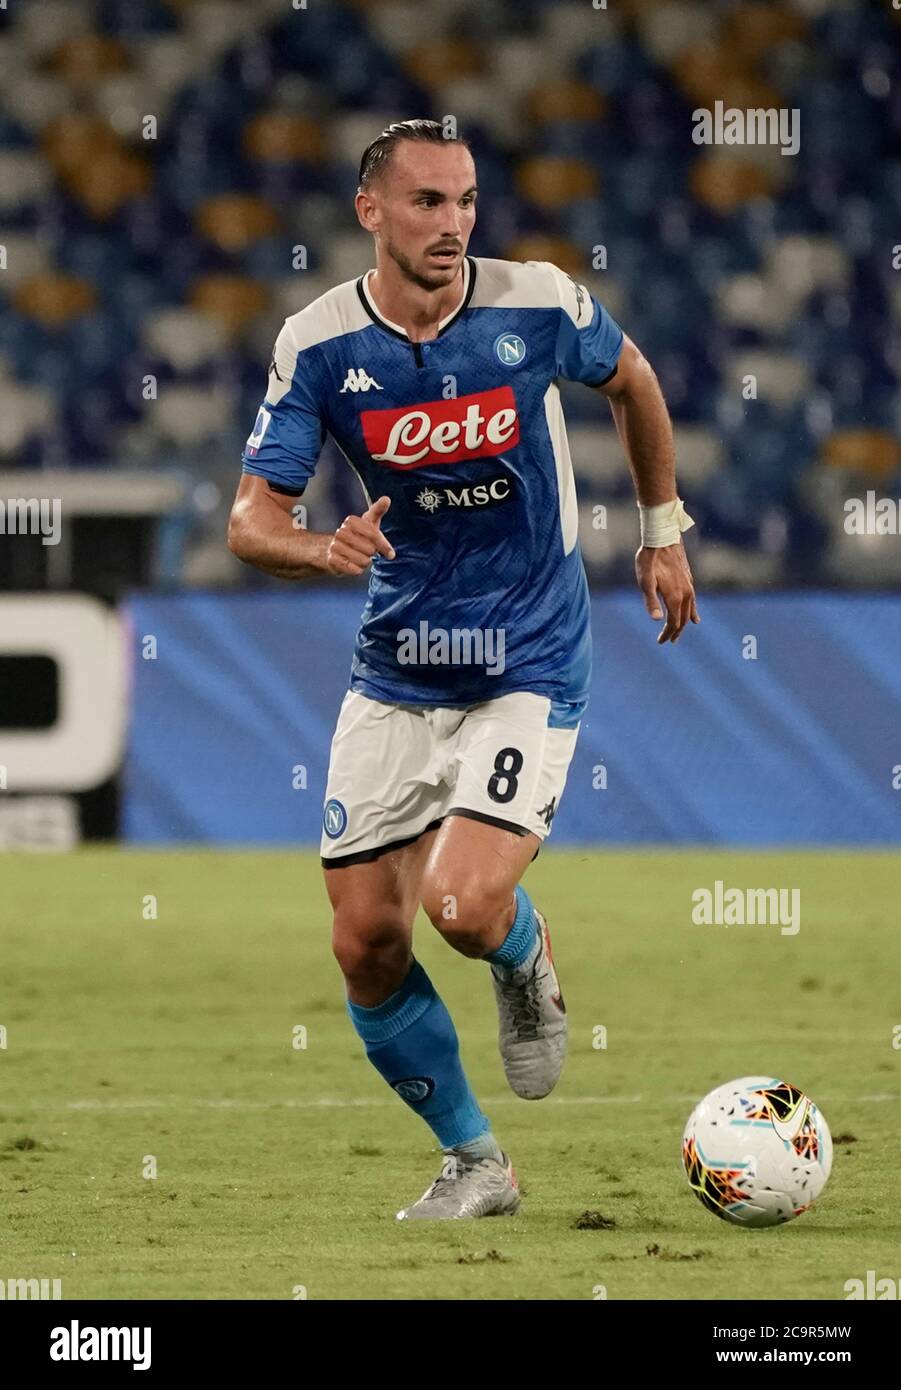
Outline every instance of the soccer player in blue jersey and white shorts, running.
{"label": "soccer player in blue jersey and white shorts, running", "polygon": [[[332,947],[366,1054],[432,1129],[441,1175],[399,1219],[514,1212],[519,1191],[412,954],[421,903],[488,963],[508,1081],[555,1086],[566,1009],[520,884],[551,830],[591,645],[558,378],[610,402],[635,481],[635,569],[659,642],[698,621],[673,432],[654,371],[555,265],[467,256],[476,168],[434,121],[389,125],[356,196],[375,268],[282,327],[243,452],[235,555],[368,596],[331,746],[321,860]],[[334,534],[292,507],[331,434],[366,495]]]}

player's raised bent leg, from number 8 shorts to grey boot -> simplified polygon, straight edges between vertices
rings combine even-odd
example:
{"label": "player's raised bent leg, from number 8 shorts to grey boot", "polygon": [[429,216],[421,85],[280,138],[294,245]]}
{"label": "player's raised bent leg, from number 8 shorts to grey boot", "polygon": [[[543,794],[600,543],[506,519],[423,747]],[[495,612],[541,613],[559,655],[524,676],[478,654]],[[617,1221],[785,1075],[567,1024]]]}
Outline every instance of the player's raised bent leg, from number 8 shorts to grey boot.
{"label": "player's raised bent leg, from number 8 shorts to grey boot", "polygon": [[453,803],[423,876],[432,924],[455,949],[491,965],[501,1055],[524,1099],[553,1088],[566,1055],[548,924],[519,880],[551,828],[577,713],[520,692],[467,714]]}

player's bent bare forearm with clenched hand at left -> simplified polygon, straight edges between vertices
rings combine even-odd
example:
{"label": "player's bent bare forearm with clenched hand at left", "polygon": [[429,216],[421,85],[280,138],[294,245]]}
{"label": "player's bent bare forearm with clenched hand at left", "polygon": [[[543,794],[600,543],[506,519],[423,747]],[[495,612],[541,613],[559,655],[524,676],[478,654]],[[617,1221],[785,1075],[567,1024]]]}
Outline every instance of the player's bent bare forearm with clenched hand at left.
{"label": "player's bent bare forearm with clenched hand at left", "polygon": [[381,532],[389,498],[380,498],[363,516],[345,517],[334,532],[299,527],[295,503],[295,496],[277,492],[266,478],[245,473],[228,518],[232,555],[278,580],[363,574],[374,555],[393,560]]}

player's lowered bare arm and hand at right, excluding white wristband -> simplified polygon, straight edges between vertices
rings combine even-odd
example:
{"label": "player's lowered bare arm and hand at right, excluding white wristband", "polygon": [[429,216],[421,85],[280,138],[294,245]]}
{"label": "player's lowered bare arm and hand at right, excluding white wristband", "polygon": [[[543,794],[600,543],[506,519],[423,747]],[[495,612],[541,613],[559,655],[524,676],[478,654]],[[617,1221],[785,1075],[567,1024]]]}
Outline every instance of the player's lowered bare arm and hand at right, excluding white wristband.
{"label": "player's lowered bare arm and hand at right, excluding white wristband", "polygon": [[[673,425],[654,368],[630,338],[623,339],[615,374],[596,389],[610,402],[641,506],[677,502]],[[642,543],[635,555],[635,577],[651,617],[663,617],[660,599],[666,607],[658,642],[677,642],[688,621],[701,621],[681,539],[672,545]]]}

